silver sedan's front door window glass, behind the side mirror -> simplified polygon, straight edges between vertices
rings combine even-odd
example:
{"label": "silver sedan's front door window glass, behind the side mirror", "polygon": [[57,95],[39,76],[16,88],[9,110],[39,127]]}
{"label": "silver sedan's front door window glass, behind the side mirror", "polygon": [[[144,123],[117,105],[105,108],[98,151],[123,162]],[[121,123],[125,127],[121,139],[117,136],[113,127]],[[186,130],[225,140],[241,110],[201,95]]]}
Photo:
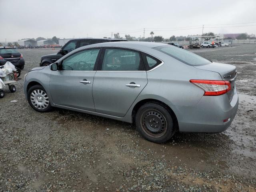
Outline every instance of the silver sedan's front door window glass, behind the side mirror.
{"label": "silver sedan's front door window glass, behind the side mirror", "polygon": [[100,49],[75,53],[62,61],[63,71],[93,71]]}

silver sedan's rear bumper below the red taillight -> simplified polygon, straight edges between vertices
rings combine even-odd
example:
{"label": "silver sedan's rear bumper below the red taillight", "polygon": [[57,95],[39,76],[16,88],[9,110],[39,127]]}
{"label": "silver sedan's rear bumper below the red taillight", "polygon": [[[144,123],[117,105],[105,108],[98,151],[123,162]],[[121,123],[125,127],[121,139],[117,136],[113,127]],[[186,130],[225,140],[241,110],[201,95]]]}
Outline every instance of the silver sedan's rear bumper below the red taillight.
{"label": "silver sedan's rear bumper below the red taillight", "polygon": [[[172,106],[170,106],[172,107]],[[238,93],[229,102],[226,94],[220,96],[203,96],[196,106],[176,106],[181,132],[218,133],[225,131],[236,116],[238,110]],[[230,118],[228,122],[223,120]]]}

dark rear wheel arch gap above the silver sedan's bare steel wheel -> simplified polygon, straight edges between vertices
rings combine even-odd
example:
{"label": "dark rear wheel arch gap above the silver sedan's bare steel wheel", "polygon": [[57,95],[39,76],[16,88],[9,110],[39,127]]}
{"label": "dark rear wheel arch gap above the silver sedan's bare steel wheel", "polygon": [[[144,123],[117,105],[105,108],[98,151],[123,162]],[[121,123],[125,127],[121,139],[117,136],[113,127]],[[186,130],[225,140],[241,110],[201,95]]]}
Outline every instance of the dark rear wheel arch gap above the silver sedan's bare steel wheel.
{"label": "dark rear wheel arch gap above the silver sedan's bare steel wheel", "polygon": [[140,100],[139,102],[137,102],[132,109],[132,124],[135,123],[135,116],[136,116],[138,109],[146,103],[156,103],[156,104],[159,104],[159,105],[163,106],[164,108],[166,108],[168,110],[168,112],[171,114],[171,116],[174,117],[174,126],[176,127],[176,130],[179,130],[178,120],[177,120],[176,114],[174,113],[172,108],[170,108],[170,106],[168,106],[164,102],[157,100],[157,99],[143,99],[143,100]]}

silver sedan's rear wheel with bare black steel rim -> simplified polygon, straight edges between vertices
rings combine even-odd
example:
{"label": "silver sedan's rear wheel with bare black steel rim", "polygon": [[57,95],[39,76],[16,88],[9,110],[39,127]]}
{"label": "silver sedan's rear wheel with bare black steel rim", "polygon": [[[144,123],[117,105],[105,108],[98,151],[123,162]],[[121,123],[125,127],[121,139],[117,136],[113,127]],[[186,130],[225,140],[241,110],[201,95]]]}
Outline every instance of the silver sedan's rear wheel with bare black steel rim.
{"label": "silver sedan's rear wheel with bare black steel rim", "polygon": [[170,140],[176,132],[174,117],[168,108],[158,103],[142,105],[135,117],[138,132],[154,143],[164,143]]}

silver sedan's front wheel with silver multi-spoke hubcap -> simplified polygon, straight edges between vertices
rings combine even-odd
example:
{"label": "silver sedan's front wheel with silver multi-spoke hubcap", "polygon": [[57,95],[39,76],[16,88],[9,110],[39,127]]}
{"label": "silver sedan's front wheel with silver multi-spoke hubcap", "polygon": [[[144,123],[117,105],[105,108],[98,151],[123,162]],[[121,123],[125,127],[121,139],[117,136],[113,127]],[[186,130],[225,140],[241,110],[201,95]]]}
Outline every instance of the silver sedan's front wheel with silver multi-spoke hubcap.
{"label": "silver sedan's front wheel with silver multi-spoke hubcap", "polygon": [[49,97],[41,85],[34,85],[27,92],[28,103],[38,112],[48,112],[52,110]]}

